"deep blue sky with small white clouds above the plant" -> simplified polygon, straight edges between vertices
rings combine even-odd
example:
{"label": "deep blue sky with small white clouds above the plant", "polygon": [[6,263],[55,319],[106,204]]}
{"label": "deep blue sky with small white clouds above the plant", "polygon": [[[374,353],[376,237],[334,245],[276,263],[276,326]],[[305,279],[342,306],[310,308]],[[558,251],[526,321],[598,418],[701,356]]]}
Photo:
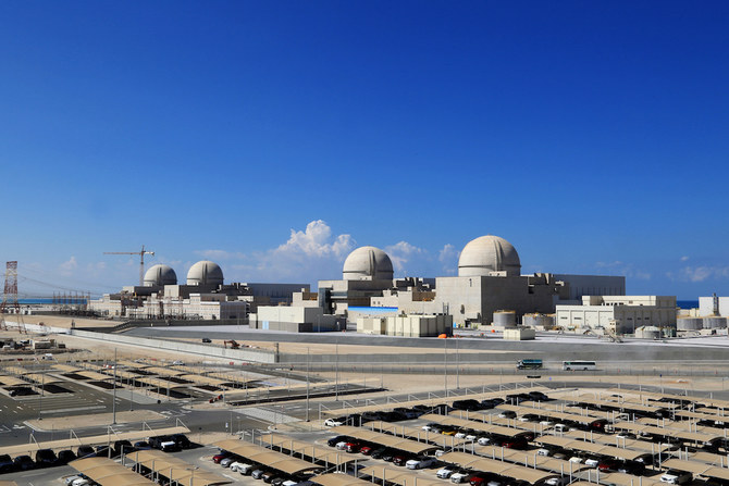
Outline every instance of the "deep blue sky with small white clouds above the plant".
{"label": "deep blue sky with small white clouds above the plant", "polygon": [[[337,277],[359,245],[448,275],[727,295],[729,3],[0,3],[0,260],[109,291],[143,244],[181,278]],[[41,282],[42,284],[39,284]]]}

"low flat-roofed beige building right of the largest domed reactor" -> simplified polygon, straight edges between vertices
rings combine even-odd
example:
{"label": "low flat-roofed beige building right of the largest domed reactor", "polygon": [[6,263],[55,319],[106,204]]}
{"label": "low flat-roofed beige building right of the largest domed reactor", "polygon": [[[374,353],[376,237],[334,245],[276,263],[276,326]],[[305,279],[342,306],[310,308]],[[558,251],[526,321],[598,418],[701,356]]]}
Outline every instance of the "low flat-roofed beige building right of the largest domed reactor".
{"label": "low flat-roofed beige building right of the largest domed reactor", "polygon": [[582,306],[557,306],[557,326],[564,329],[606,329],[635,334],[643,326],[676,329],[676,297],[585,296]]}

